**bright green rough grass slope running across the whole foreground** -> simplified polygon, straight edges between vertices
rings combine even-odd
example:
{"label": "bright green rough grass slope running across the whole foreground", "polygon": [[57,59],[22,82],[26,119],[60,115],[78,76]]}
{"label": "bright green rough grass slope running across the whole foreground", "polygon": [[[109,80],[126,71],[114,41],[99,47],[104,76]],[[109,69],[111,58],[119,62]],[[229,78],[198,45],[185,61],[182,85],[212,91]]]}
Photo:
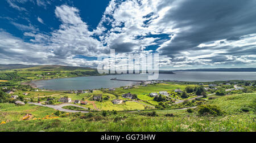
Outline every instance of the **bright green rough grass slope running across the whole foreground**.
{"label": "bright green rough grass slope running across the whole foreground", "polygon": [[[196,110],[188,113],[186,110],[155,110],[156,116],[148,116],[143,112],[101,112],[89,114],[63,114],[58,119],[21,120],[22,115],[31,113],[35,116],[51,115],[51,109],[32,105],[14,106],[0,103],[1,114],[6,112],[9,122],[0,125],[0,131],[228,131],[255,132],[256,93],[234,94],[212,99],[207,104],[219,106],[227,114],[222,116],[200,116]],[[230,105],[232,103],[232,105]],[[231,106],[231,107],[230,107]],[[26,107],[26,110],[22,110]],[[249,111],[240,110],[249,107]],[[41,111],[40,113],[35,110]],[[43,111],[46,110],[46,111]],[[173,116],[166,116],[173,114]],[[5,116],[0,118],[5,121]]]}

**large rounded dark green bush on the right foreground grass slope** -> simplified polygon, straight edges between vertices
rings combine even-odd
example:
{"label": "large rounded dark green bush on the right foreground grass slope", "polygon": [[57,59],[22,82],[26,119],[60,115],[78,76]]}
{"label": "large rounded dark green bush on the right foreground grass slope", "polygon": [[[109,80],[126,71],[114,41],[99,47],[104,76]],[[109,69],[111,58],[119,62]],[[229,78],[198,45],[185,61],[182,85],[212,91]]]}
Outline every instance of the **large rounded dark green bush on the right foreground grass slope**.
{"label": "large rounded dark green bush on the right foreground grass slope", "polygon": [[214,115],[214,116],[221,116],[224,115],[225,112],[222,111],[218,106],[216,105],[200,105],[198,110],[198,113],[200,115]]}

